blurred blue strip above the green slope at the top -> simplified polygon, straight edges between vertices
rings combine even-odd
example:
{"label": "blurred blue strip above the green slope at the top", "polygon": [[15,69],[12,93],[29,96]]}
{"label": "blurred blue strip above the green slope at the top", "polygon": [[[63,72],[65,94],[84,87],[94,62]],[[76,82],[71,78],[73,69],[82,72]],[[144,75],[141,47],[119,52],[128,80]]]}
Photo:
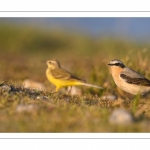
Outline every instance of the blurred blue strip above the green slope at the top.
{"label": "blurred blue strip above the green slope at the top", "polygon": [[32,24],[45,28],[61,28],[92,36],[121,36],[150,40],[150,18],[0,18],[17,24]]}

